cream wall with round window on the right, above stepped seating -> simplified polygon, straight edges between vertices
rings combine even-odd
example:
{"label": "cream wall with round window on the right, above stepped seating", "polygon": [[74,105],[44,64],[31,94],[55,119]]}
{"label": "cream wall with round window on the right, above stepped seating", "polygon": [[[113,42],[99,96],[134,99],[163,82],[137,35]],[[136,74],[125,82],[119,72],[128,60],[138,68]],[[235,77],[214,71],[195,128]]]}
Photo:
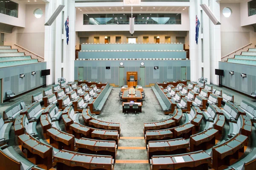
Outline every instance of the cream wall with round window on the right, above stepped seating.
{"label": "cream wall with round window on the right, above stepped seating", "polygon": [[[232,14],[230,17],[224,17],[222,14],[222,10],[225,7],[231,8]],[[220,12],[221,56],[228,54],[250,42],[255,44],[256,33],[254,32],[254,28],[252,26],[241,26],[241,23],[244,23],[244,20],[247,20],[248,17],[240,19],[240,16],[244,15],[244,12],[247,14],[248,10],[240,10],[240,3],[221,3]]]}

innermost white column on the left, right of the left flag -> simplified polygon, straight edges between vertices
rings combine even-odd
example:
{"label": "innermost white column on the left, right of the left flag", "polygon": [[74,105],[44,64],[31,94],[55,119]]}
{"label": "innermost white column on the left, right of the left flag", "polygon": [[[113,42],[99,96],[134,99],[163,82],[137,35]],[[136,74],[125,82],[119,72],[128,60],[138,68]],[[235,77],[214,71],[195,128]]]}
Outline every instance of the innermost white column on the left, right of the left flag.
{"label": "innermost white column on the left, right of the left flag", "polygon": [[[69,16],[69,42],[66,48],[66,63],[64,64],[67,79],[74,81],[75,53],[76,53],[76,8],[75,1],[67,0],[67,14]],[[66,41],[66,40],[65,40]]]}

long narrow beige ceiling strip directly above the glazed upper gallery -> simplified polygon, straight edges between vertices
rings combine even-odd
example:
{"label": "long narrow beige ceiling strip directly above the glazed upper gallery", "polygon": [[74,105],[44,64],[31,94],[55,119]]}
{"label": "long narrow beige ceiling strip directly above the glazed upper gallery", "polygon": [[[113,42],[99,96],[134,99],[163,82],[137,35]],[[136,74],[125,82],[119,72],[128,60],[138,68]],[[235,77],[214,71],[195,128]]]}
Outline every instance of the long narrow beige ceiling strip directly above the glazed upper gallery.
{"label": "long narrow beige ceiling strip directly above the glazed upper gallery", "polygon": [[[111,8],[111,9],[110,9]],[[186,8],[186,9],[185,9]],[[156,7],[147,7],[144,6],[141,8],[141,6],[134,6],[133,11],[134,12],[169,12],[169,11],[186,11],[188,7],[184,6],[156,6]],[[88,13],[97,13],[97,12],[108,12],[108,13],[122,13],[122,12],[130,12],[131,11],[131,6],[126,6],[126,7],[81,7],[81,8],[76,8],[77,11],[81,12],[88,12]]]}

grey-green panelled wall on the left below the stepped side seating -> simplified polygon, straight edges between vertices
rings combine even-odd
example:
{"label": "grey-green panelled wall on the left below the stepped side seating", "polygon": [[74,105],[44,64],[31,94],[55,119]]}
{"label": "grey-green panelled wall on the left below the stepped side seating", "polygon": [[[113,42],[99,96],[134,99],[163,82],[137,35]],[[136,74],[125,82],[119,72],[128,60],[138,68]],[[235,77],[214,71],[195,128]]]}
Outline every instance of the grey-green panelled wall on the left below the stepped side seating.
{"label": "grey-green panelled wall on the left below the stepped side seating", "polygon": [[[44,69],[46,62],[0,68],[0,79],[3,79],[3,100],[7,99],[6,91],[12,90],[18,95],[43,85],[41,70]],[[36,72],[34,76],[31,75],[32,71]],[[20,74],[25,74],[25,77],[20,78]]]}

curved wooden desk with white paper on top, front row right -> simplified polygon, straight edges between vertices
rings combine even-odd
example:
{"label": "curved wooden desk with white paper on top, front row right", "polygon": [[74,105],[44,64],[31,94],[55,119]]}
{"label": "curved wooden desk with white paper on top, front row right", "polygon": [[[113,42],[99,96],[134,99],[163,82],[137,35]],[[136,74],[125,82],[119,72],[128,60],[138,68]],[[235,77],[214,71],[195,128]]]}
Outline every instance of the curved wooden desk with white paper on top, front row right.
{"label": "curved wooden desk with white paper on top, front row right", "polygon": [[183,167],[189,167],[189,170],[208,170],[211,161],[211,156],[201,150],[180,155],[152,156],[150,163],[151,170],[177,170]]}

